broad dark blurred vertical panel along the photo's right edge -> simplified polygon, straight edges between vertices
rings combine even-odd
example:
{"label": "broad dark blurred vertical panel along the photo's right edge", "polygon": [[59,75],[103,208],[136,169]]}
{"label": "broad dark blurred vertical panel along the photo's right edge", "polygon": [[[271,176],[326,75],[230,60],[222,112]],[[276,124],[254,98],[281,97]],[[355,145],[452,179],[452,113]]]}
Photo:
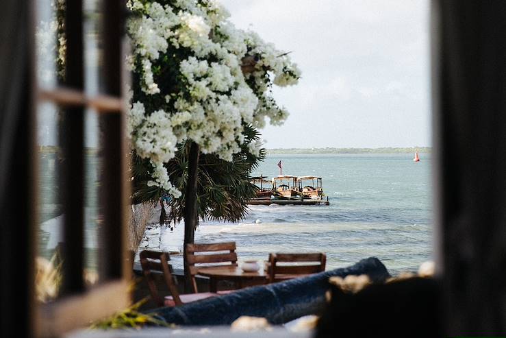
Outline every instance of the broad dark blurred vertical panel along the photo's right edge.
{"label": "broad dark blurred vertical panel along the photo's right edge", "polygon": [[445,337],[506,333],[506,2],[433,1]]}

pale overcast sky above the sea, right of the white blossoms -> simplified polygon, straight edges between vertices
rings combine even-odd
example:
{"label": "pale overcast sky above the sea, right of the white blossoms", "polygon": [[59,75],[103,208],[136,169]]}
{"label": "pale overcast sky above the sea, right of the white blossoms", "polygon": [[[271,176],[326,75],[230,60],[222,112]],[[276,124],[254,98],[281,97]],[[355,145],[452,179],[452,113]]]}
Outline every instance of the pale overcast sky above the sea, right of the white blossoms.
{"label": "pale overcast sky above the sea, right of the white blossoms", "polygon": [[290,117],[266,147],[431,145],[427,0],[220,1],[302,71],[275,90]]}

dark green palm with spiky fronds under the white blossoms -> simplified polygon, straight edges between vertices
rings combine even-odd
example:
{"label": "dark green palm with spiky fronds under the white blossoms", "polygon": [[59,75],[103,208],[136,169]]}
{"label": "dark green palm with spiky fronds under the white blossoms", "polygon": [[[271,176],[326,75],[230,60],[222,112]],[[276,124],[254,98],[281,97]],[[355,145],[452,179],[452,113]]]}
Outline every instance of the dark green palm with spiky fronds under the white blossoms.
{"label": "dark green palm with spiky fronds under the white blossoms", "polygon": [[[235,154],[231,162],[215,154],[199,154],[198,146],[186,141],[179,145],[175,158],[166,163],[170,182],[181,191],[181,197],[170,200],[167,217],[162,206],[160,221],[162,223],[163,219],[176,224],[185,220],[184,248],[186,244],[193,243],[199,219],[236,222],[244,218],[247,202],[255,197],[257,191],[257,187],[251,183],[251,171],[265,158],[264,149],[260,150],[258,156],[251,154],[248,149],[248,144],[257,141],[260,133],[247,125],[244,136],[241,152]],[[149,160],[134,154],[134,203],[156,204],[165,197],[165,191],[159,186],[148,186],[150,169]],[[186,253],[184,262],[189,280]]]}

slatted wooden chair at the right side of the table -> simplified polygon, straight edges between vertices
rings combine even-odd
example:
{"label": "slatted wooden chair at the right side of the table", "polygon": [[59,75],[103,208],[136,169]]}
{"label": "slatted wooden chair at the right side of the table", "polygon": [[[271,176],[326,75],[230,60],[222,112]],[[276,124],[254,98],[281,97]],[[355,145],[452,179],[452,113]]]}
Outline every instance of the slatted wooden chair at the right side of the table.
{"label": "slatted wooden chair at the right side of the table", "polygon": [[[268,282],[279,282],[303,275],[325,271],[327,256],[323,253],[309,254],[269,254],[266,264]],[[303,265],[287,265],[278,263],[312,263]],[[315,264],[317,263],[317,264]]]}

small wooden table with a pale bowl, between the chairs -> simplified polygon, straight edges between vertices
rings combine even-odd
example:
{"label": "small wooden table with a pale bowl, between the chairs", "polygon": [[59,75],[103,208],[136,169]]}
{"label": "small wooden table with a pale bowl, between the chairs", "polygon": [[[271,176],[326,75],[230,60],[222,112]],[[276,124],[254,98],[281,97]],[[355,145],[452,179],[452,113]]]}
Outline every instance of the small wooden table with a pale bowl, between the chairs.
{"label": "small wooden table with a pale bowl, between the chairs", "polygon": [[255,272],[244,272],[240,267],[235,265],[200,267],[197,270],[197,274],[209,277],[209,289],[211,292],[217,291],[219,280],[231,280],[235,282],[236,289],[242,289],[244,282],[257,282],[258,284],[265,284],[267,282],[266,272],[262,268]]}

